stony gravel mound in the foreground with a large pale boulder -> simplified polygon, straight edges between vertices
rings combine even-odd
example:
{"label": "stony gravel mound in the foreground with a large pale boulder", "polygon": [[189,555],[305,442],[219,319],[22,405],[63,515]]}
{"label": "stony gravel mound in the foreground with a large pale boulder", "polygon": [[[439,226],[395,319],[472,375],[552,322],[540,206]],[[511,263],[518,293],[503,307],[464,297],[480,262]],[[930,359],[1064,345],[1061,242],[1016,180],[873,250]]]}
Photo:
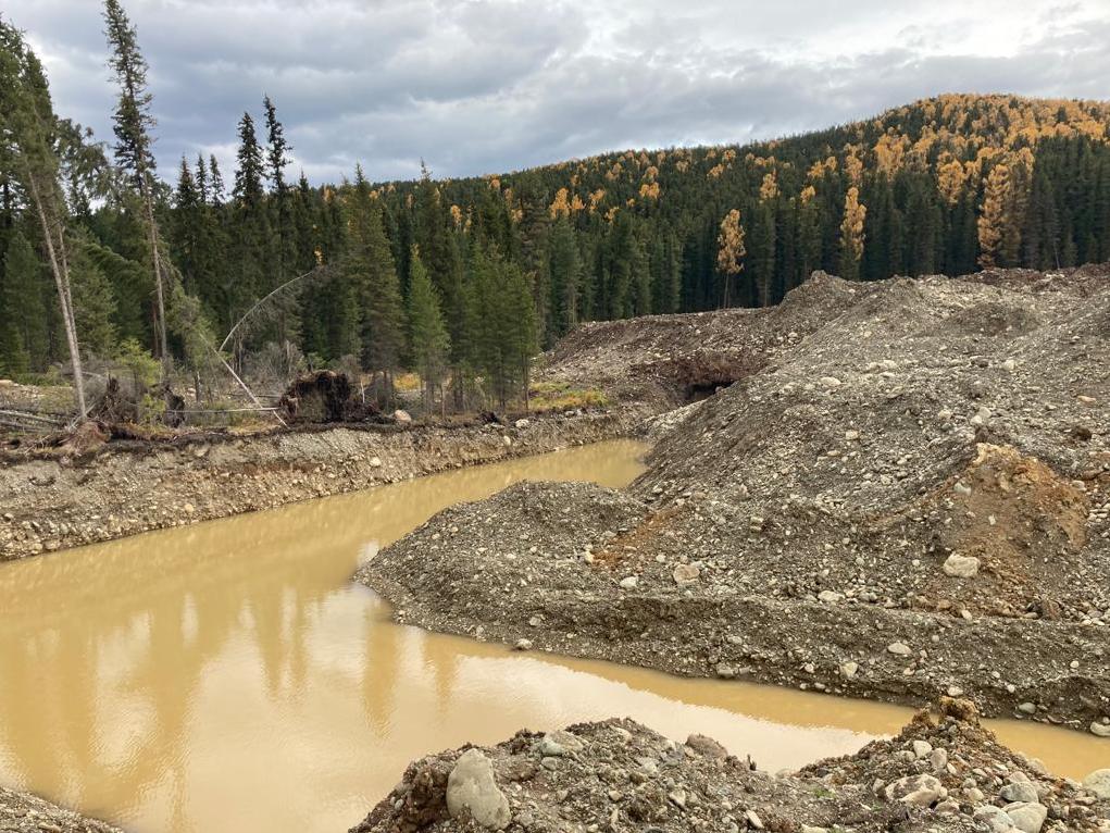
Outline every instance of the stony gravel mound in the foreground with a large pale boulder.
{"label": "stony gravel mound in the foreground with a large pale boulder", "polygon": [[1078,833],[1110,830],[1108,816],[1110,770],[1054,779],[946,699],[890,741],[775,775],[712,739],[678,744],[630,720],[523,731],[413,763],[351,833]]}

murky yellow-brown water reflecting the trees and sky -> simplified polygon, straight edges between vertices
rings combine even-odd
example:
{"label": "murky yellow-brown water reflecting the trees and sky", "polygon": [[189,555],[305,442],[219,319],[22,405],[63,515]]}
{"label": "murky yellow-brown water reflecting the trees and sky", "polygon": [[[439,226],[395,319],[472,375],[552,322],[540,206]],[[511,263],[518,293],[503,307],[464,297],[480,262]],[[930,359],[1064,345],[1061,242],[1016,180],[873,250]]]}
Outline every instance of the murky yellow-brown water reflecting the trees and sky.
{"label": "murky yellow-brown water reflecting the trees and sky", "polygon": [[[0,565],[0,783],[138,833],[336,833],[420,755],[629,715],[764,769],[851,752],[909,711],[518,654],[387,621],[360,559],[519,479],[620,485],[610,442]],[[1104,744],[1020,723],[1062,774]]]}

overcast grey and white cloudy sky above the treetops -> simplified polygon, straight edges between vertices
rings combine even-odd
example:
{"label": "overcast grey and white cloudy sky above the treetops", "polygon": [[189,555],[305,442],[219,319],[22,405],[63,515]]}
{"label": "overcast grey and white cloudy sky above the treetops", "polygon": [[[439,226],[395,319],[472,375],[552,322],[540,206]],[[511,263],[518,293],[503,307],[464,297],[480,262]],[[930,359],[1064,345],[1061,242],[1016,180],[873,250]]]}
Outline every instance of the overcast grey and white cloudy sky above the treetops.
{"label": "overcast grey and white cloudy sky above the treetops", "polygon": [[[4,0],[60,113],[110,138],[98,0]],[[1110,0],[124,0],[157,151],[278,106],[296,169],[501,172],[828,127],[938,92],[1110,99]],[[845,8],[850,7],[850,8]],[[294,169],[294,173],[296,172]]]}

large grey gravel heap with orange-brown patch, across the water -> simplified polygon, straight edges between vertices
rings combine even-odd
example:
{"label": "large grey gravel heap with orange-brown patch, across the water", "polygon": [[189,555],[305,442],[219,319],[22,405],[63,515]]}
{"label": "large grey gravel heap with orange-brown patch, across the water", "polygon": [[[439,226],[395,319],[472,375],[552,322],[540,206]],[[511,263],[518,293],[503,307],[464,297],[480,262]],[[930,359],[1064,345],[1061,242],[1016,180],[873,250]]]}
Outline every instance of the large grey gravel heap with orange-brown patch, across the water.
{"label": "large grey gravel heap with orange-brown patch, across the water", "polygon": [[750,372],[654,420],[629,490],[514,486],[359,578],[521,648],[1110,735],[1108,275],[816,275],[724,313]]}

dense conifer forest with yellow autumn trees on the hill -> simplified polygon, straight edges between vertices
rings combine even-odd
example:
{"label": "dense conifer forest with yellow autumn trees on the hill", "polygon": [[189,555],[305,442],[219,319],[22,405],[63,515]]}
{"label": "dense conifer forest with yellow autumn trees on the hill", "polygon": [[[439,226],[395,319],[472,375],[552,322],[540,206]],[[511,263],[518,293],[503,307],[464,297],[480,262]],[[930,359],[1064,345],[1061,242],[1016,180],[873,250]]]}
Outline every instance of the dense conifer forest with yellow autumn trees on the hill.
{"label": "dense conifer forest with yellow autumn trees on the hill", "polygon": [[[71,319],[80,357],[152,375],[160,361],[198,398],[226,361],[256,378],[342,365],[383,398],[411,369],[430,400],[503,404],[529,358],[583,320],[773,304],[815,269],[869,281],[1110,260],[1110,106],[1092,101],[942,96],[744,147],[315,184],[291,180],[260,96],[232,171],[198,154],[162,182],[145,61],[122,8],[107,8],[110,143],[53,114],[41,67],[6,33],[4,83],[37,90],[42,134],[28,150],[6,117],[0,375],[71,368]],[[37,211],[47,180],[56,222]],[[51,278],[59,250],[71,290]]]}

